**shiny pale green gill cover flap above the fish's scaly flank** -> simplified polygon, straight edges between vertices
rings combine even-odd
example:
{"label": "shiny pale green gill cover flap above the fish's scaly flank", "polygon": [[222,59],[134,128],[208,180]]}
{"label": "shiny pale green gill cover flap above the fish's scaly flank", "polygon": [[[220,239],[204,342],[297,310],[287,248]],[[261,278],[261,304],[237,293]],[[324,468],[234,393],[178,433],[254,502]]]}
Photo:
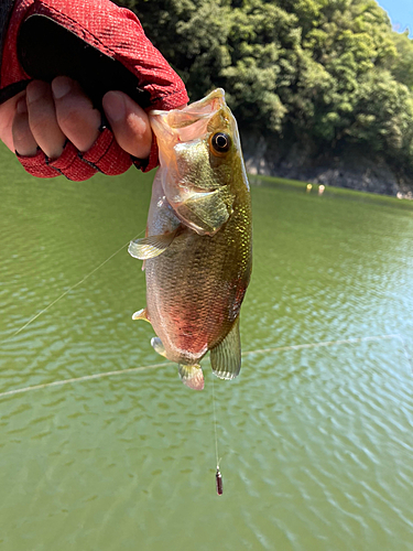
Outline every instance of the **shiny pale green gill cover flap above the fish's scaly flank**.
{"label": "shiny pale green gill cover flap above the fish's scaly flank", "polygon": [[232,214],[232,196],[227,190],[194,193],[175,209],[180,218],[199,235],[214,235]]}

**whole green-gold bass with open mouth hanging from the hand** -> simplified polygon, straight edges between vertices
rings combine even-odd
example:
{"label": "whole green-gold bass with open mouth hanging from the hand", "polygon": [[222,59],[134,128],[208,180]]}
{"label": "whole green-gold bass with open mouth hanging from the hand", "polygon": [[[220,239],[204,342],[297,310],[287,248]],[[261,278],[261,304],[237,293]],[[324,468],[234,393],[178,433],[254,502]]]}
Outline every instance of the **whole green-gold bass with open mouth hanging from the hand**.
{"label": "whole green-gold bass with open mouth hanging from the hand", "polygon": [[143,260],[152,347],[178,365],[182,381],[204,388],[241,368],[240,309],[252,268],[251,195],[237,121],[217,88],[183,109],[149,114],[160,168],[144,238],[128,251]]}

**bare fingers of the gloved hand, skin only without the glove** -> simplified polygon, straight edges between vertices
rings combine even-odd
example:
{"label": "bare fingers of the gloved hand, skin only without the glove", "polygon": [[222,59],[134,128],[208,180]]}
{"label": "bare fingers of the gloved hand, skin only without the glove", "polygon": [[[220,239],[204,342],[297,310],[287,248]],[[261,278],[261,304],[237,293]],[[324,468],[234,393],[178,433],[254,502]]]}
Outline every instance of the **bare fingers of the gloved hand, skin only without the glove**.
{"label": "bare fingers of the gloved hand, skin only without the glove", "polygon": [[[121,149],[146,159],[152,143],[146,112],[122,91],[108,91],[102,106]],[[97,140],[100,126],[100,112],[78,83],[64,76],[52,85],[33,80],[25,93],[0,106],[0,139],[21,156],[35,155],[40,148],[50,160],[57,159],[66,140],[84,153]]]}

